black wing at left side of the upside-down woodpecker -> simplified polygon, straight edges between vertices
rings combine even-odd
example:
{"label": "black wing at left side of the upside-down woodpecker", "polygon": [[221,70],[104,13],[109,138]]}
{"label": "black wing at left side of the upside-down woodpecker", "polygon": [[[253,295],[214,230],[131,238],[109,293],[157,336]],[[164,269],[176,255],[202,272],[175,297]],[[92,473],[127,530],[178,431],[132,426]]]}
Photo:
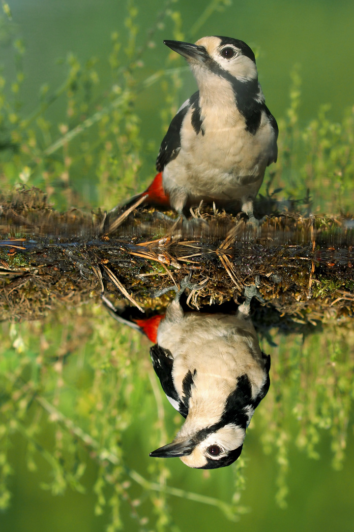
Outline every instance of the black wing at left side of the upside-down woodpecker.
{"label": "black wing at left side of the upside-down woodpecker", "polygon": [[153,369],[160,379],[163,391],[165,392],[169,402],[184,418],[188,415],[188,409],[178,396],[177,390],[172,379],[172,368],[174,359],[168,349],[163,349],[158,344],[150,348],[150,356],[152,360]]}

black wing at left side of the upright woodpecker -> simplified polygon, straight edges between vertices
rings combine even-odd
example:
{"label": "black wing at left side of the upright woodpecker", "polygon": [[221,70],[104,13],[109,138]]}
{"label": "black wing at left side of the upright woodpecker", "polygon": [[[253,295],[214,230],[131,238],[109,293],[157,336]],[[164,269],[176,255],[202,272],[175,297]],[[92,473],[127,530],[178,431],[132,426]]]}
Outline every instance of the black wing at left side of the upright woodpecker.
{"label": "black wing at left side of the upright woodpecker", "polygon": [[160,151],[156,160],[156,169],[162,172],[166,164],[177,157],[180,150],[180,129],[182,122],[188,110],[196,104],[199,100],[199,91],[194,93],[187,101],[180,107],[176,116],[172,118],[170,126],[163,138],[160,146]]}

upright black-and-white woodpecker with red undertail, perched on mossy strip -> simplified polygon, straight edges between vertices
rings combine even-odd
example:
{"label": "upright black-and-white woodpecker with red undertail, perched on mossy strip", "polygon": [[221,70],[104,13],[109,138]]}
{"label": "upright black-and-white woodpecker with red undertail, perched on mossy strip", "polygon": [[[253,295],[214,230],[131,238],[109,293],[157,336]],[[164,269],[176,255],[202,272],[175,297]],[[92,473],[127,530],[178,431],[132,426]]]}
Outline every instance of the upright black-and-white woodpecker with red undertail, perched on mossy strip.
{"label": "upright black-and-white woodpecker with red undertail, perched on mossy strip", "polygon": [[186,58],[199,90],[171,121],[146,201],[179,214],[201,200],[232,210],[240,201],[257,225],[253,201],[266,167],[277,161],[278,125],[264,103],[252,49],[218,36],[163,42]]}

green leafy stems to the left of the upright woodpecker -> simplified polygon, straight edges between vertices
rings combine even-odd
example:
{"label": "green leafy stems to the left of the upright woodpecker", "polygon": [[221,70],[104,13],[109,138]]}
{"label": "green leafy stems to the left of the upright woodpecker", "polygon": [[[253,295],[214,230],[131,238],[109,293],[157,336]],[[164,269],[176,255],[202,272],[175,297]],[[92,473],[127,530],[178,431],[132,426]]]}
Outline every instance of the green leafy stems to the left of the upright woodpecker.
{"label": "green leafy stems to the left of the upright woodpecker", "polygon": [[[175,35],[179,35],[180,15],[170,9],[173,3],[166,0],[145,42],[138,44],[138,11],[134,1],[129,0],[125,46],[117,32],[111,35],[107,60],[110,87],[100,82],[97,60],[92,58],[81,64],[69,54],[65,60],[65,81],[54,91],[48,85],[42,86],[37,108],[27,117],[23,117],[18,99],[24,79],[21,61],[24,49],[21,41],[13,41],[16,80],[8,87],[0,77],[2,186],[8,188],[19,182],[38,186],[63,208],[93,198],[109,208],[136,192],[144,146],[134,106],[142,90],[165,76],[163,71],[139,81],[142,59],[151,49],[154,34],[163,28],[163,19],[170,19],[176,27]],[[176,79],[178,70],[167,71],[167,75]],[[50,119],[54,104],[63,111],[60,123]],[[88,192],[88,187],[93,190]],[[78,194],[79,189],[84,190],[85,197]]]}

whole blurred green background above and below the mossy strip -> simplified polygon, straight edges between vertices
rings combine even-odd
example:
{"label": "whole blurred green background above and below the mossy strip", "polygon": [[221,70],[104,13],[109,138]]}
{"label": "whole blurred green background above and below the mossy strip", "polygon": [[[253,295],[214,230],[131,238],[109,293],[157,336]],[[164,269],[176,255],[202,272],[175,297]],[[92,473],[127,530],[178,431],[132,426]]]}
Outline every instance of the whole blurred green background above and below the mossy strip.
{"label": "whole blurred green background above and below the mossy strip", "polygon": [[[4,15],[0,27],[3,189],[36,185],[58,207],[105,209],[141,190],[171,116],[195,90],[162,40],[216,34],[256,51],[267,106],[281,125],[273,188],[283,198],[310,188],[315,212],[352,212],[352,2],[8,5],[12,20]],[[65,137],[97,112],[94,126]],[[271,334],[278,347],[266,339],[262,347],[272,356],[272,386],[242,458],[206,473],[149,459],[182,418],[161,394],[147,340],[94,305],[44,323],[3,323],[0,529],[354,530],[352,332]]]}

